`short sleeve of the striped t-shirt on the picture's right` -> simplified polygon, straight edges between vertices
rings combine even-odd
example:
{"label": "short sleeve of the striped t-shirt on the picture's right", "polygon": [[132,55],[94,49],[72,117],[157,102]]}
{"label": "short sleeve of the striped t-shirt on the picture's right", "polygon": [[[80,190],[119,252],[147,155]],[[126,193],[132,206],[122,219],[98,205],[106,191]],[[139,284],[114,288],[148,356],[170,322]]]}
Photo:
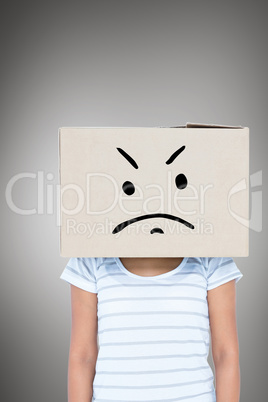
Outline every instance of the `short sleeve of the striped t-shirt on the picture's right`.
{"label": "short sleeve of the striped t-shirt on the picture's right", "polygon": [[213,257],[207,260],[207,290],[216,288],[235,279],[237,283],[243,274],[232,257]]}

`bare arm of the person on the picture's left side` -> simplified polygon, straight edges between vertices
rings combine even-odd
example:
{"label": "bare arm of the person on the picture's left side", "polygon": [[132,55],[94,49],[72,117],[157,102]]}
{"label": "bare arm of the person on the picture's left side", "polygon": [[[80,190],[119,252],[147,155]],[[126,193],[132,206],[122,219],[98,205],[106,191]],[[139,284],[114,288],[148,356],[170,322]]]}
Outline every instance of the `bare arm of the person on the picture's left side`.
{"label": "bare arm of the person on the picture's left side", "polygon": [[97,294],[71,285],[68,402],[90,402],[98,355]]}

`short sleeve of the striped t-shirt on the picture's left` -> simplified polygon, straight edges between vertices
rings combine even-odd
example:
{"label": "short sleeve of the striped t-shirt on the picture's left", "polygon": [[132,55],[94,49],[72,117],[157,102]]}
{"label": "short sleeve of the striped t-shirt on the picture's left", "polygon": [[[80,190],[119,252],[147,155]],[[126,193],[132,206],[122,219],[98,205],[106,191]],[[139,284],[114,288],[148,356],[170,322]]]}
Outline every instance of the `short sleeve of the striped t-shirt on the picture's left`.
{"label": "short sleeve of the striped t-shirt on the picture's left", "polygon": [[88,292],[97,293],[95,258],[70,258],[60,279]]}

